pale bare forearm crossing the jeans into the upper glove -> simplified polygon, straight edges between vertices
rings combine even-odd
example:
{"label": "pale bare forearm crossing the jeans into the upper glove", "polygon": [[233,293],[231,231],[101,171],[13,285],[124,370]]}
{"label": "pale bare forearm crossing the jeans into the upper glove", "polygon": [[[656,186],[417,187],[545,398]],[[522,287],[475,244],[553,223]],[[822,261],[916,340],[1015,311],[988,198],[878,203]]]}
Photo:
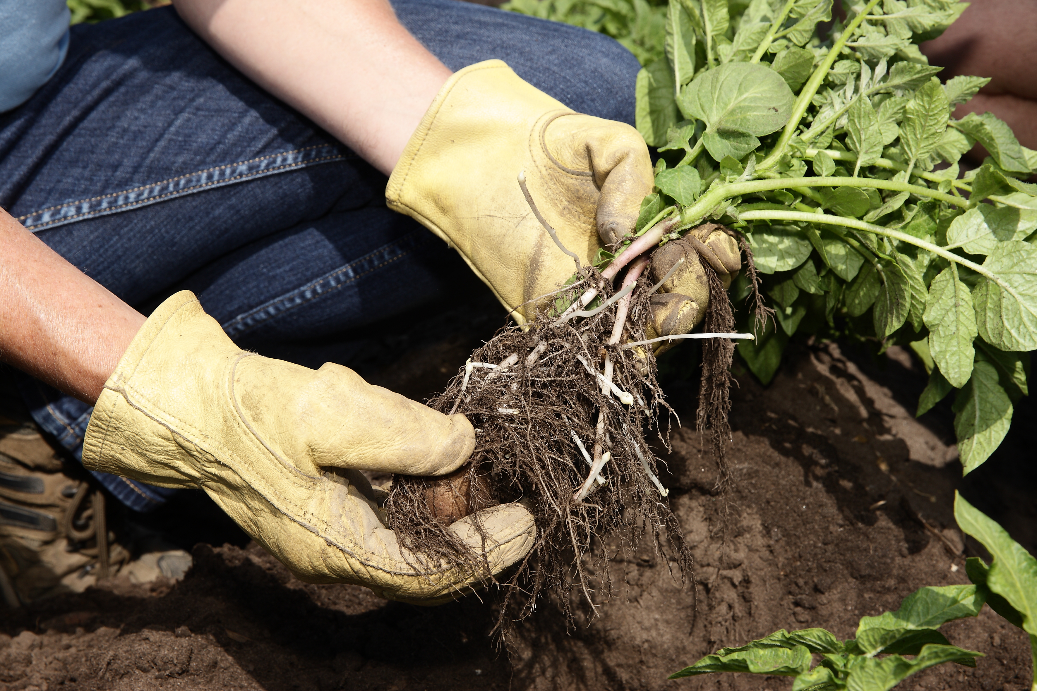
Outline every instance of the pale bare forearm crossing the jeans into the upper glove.
{"label": "pale bare forearm crossing the jeans into the upper glove", "polygon": [[173,4],[230,63],[386,174],[450,77],[388,0]]}

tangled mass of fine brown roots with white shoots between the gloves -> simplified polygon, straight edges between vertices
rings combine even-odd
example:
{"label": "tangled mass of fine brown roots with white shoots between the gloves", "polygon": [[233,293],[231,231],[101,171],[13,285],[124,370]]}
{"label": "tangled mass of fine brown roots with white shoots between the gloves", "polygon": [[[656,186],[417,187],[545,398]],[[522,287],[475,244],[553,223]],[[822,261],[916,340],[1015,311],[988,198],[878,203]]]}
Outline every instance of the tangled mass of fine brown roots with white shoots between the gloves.
{"label": "tangled mass of fine brown roots with white shoots between the gloves", "polygon": [[[612,292],[597,271],[591,281],[601,286],[602,297]],[[616,542],[607,540],[610,536],[623,551],[648,540],[677,567],[675,575],[690,573],[690,554],[658,482],[660,461],[645,439],[660,413],[669,410],[655,381],[654,358],[619,345],[645,338],[652,286],[647,277],[634,276],[628,283],[630,292],[593,316],[557,324],[556,316],[541,313],[526,329],[502,328],[428,403],[464,413],[476,428],[472,462],[464,470],[472,488],[469,510],[521,500],[533,514],[537,536],[528,557],[489,578],[484,557],[429,510],[428,492],[443,481],[410,476],[393,481],[387,524],[407,558],[445,562],[495,584],[498,628],[505,634],[535,609],[540,596],[551,594],[570,624],[570,594],[582,594],[594,610],[612,588],[613,553],[607,545]],[[571,298],[581,290],[572,290]],[[617,327],[621,308],[626,317]],[[601,372],[606,359],[608,386]],[[508,375],[502,376],[505,362]],[[618,400],[612,385],[629,398]],[[585,484],[588,492],[577,498]],[[482,529],[478,514],[473,522]]]}

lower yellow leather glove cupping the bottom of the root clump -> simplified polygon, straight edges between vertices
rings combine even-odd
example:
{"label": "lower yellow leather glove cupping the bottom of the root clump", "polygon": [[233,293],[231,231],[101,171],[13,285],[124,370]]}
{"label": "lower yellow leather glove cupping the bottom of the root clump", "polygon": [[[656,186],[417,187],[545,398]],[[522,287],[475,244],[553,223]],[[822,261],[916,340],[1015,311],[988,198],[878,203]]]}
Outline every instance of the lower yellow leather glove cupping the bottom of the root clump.
{"label": "lower yellow leather glove cupping the bottom of the root clump", "polygon": [[[366,585],[432,604],[471,578],[407,553],[359,469],[438,474],[468,460],[475,433],[327,364],[310,370],[235,346],[188,291],[137,334],[93,410],[83,463],[162,487],[200,487],[303,580]],[[521,506],[455,530],[496,573],[525,556],[535,527]],[[483,575],[485,576],[485,575]]]}

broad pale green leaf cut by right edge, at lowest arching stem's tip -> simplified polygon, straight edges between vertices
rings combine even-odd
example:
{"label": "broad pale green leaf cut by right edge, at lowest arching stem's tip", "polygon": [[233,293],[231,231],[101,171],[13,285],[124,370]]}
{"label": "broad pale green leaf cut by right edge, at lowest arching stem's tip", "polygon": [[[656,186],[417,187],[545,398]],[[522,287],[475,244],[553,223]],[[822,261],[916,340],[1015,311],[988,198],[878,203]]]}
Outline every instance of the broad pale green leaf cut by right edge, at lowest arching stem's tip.
{"label": "broad pale green leaf cut by right edge, at lowest arching stem's tip", "polygon": [[1000,350],[1037,349],[1037,248],[1020,240],[999,242],[973,290],[976,324],[983,340]]}

